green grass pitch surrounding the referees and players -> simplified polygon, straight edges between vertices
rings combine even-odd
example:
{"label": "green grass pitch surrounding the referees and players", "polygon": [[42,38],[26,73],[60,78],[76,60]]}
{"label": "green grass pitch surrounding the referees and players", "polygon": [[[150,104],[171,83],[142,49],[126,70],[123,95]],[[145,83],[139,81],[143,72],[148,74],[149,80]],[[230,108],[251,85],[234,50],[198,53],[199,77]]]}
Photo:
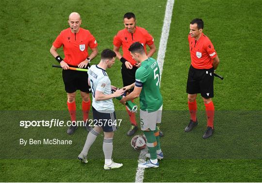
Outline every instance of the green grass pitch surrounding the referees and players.
{"label": "green grass pitch surrounding the referees and players", "polygon": [[[89,162],[76,159],[86,133],[68,136],[66,127],[24,129],[20,120],[69,120],[61,69],[49,53],[56,36],[66,29],[73,12],[82,28],[98,41],[99,53],[113,49],[113,37],[123,29],[122,17],[133,12],[158,48],[165,0],[1,0],[0,1],[0,182],[134,182],[139,151],[131,149],[127,115],[115,100],[123,122],[115,133],[113,157],[124,166],[103,170],[102,135],[90,150]],[[164,160],[146,169],[144,182],[262,182],[262,38],[261,0],[175,0],[161,91],[164,98],[161,138]],[[206,119],[198,96],[198,127],[189,121],[186,79],[190,65],[189,22],[200,17],[220,58],[214,80],[215,132],[202,139]],[[59,50],[63,56],[62,49]],[[157,52],[153,58],[157,58]],[[99,62],[99,54],[92,64]],[[120,62],[108,69],[113,85],[121,87]],[[77,108],[81,110],[80,95]],[[138,103],[138,100],[135,100]],[[81,112],[78,119],[81,120]],[[137,115],[138,117],[138,115]],[[141,134],[139,131],[137,134]],[[19,138],[64,138],[72,146],[19,146]]]}

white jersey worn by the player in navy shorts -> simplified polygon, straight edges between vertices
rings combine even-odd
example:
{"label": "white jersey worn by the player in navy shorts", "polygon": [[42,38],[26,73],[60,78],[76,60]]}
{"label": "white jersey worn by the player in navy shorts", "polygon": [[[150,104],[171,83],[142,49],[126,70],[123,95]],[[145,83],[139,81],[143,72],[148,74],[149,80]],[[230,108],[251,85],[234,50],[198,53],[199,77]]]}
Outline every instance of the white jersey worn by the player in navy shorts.
{"label": "white jersey worn by the player in navy shorts", "polygon": [[100,113],[113,113],[115,111],[113,99],[99,101],[95,99],[96,91],[103,92],[105,95],[112,93],[111,81],[106,71],[97,65],[92,65],[87,73],[92,90],[92,106]]}

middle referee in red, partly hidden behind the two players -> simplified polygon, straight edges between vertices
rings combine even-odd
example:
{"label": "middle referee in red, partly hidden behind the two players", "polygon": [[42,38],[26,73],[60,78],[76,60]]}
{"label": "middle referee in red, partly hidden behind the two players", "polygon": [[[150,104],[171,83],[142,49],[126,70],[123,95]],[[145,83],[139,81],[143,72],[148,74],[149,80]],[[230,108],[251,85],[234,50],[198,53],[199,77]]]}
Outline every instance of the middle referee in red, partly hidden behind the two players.
{"label": "middle referee in red, partly hidden behind the two players", "polygon": [[[123,86],[128,86],[135,82],[135,72],[141,65],[140,63],[136,63],[130,54],[129,47],[131,44],[134,42],[141,43],[148,57],[151,57],[154,54],[156,51],[156,46],[152,35],[149,34],[146,29],[136,26],[136,18],[133,13],[126,13],[123,17],[123,23],[125,28],[118,31],[114,37],[113,44],[116,57],[122,62],[121,74]],[[147,46],[149,47],[148,53]],[[123,50],[123,55],[121,55],[119,51],[121,47]],[[126,95],[129,95],[132,90],[133,89],[127,91]],[[137,122],[135,119],[135,114],[129,112],[128,108],[126,108],[126,110],[129,114],[131,122],[131,128],[127,135],[132,136],[138,129]],[[160,131],[160,127],[157,126],[157,128],[159,130],[159,136],[164,136],[164,133]]]}

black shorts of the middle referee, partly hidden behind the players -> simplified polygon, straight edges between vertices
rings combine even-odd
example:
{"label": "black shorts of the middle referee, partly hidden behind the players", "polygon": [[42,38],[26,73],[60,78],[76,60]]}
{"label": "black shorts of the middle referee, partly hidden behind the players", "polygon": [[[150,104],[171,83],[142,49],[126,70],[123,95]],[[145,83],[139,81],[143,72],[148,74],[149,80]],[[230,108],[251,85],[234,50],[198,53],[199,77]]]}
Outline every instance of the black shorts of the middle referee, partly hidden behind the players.
{"label": "black shorts of the middle referee, partly hidden behind the players", "polygon": [[[132,83],[135,83],[135,71],[136,70],[137,70],[137,67],[135,66],[133,66],[132,69],[128,69],[125,64],[122,64],[121,74],[122,74],[123,86],[127,86]],[[133,89],[131,89],[130,92],[131,91],[133,91]]]}

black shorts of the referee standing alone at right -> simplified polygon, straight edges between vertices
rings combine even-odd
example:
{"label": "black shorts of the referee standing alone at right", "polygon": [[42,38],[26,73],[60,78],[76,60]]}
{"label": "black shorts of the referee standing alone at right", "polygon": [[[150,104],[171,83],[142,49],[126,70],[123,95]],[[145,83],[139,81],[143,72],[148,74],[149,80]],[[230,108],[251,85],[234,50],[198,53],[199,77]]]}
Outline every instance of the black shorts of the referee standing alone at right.
{"label": "black shorts of the referee standing alone at right", "polygon": [[214,69],[196,69],[190,66],[188,71],[186,93],[197,94],[201,93],[204,98],[214,97]]}

